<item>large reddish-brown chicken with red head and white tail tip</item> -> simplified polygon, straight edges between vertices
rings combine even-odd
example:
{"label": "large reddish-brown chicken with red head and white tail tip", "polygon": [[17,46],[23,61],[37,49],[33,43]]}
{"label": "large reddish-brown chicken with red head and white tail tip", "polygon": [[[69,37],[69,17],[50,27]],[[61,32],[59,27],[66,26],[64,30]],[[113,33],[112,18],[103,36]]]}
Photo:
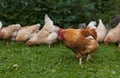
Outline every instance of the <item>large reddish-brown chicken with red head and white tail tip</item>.
{"label": "large reddish-brown chicken with red head and white tail tip", "polygon": [[96,41],[97,33],[95,22],[90,22],[86,29],[59,29],[58,39],[62,40],[66,47],[71,49],[82,63],[82,56],[87,55],[87,61],[91,59],[90,54],[98,48]]}

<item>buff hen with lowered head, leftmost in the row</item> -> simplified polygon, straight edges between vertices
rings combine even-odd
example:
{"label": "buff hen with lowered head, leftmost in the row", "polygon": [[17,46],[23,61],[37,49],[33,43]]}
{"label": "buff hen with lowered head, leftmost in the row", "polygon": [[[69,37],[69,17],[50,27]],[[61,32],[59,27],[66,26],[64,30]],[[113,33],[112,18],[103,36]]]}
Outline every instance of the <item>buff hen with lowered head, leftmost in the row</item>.
{"label": "buff hen with lowered head, leftmost in the row", "polygon": [[3,27],[0,30],[0,35],[2,39],[15,40],[18,30],[20,29],[20,24],[12,24],[7,27]]}

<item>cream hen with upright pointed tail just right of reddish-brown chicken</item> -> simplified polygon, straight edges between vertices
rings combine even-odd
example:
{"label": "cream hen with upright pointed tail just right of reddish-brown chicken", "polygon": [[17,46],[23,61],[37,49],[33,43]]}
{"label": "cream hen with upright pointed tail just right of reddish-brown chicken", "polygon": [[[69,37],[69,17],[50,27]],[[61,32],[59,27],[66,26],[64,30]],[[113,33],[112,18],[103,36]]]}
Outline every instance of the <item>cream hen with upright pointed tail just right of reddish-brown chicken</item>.
{"label": "cream hen with upright pointed tail just right of reddish-brown chicken", "polygon": [[99,19],[99,24],[98,24],[98,27],[96,29],[96,32],[97,32],[97,41],[103,42],[104,38],[106,36],[107,30],[106,30],[105,25],[103,24],[101,19]]}

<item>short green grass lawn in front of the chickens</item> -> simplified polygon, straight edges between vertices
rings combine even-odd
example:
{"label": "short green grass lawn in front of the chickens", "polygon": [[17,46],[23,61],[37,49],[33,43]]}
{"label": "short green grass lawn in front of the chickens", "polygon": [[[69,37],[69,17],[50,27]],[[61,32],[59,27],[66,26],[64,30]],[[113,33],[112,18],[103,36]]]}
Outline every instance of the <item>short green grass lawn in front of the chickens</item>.
{"label": "short green grass lawn in front of the chickens", "polygon": [[64,45],[26,47],[24,43],[0,41],[0,78],[120,78],[117,46],[100,44],[92,58],[89,62],[83,58],[79,65]]}

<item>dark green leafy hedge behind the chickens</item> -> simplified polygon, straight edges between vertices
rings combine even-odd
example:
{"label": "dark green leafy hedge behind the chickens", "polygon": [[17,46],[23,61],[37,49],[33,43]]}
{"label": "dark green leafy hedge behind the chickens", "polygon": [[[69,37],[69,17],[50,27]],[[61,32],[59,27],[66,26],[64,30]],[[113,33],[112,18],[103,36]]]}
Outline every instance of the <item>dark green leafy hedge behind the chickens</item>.
{"label": "dark green leafy hedge behind the chickens", "polygon": [[4,25],[44,24],[48,14],[60,27],[77,27],[99,18],[108,23],[119,14],[119,0],[0,0],[0,20]]}

